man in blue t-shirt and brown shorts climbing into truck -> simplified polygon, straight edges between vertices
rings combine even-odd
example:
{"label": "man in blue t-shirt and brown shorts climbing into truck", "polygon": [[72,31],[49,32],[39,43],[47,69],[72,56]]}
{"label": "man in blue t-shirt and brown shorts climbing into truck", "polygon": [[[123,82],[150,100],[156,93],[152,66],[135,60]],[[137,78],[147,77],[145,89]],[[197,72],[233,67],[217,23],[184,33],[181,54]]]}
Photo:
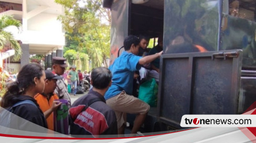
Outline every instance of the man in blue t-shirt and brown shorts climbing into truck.
{"label": "man in blue t-shirt and brown shorts climbing into truck", "polygon": [[112,85],[105,93],[106,104],[108,104],[116,115],[118,122],[118,133],[124,134],[126,113],[137,114],[131,134],[136,134],[143,124],[150,105],[142,100],[130,96],[133,89],[134,71],[139,70],[143,64],[152,62],[159,58],[163,51],[150,56],[137,56],[140,40],[134,35],[124,39],[124,52],[116,58],[109,67],[111,70]]}

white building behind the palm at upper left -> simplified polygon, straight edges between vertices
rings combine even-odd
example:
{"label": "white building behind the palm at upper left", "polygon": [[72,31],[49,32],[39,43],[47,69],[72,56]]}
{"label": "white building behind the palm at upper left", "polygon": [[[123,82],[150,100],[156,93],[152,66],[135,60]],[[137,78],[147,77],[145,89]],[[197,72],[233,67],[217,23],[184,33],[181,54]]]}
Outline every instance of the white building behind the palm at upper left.
{"label": "white building behind the palm at upper left", "polygon": [[62,56],[65,32],[57,20],[64,11],[61,5],[54,0],[0,0],[0,6],[0,15],[13,15],[22,22],[19,33],[17,29],[8,29],[14,33],[16,40],[22,41],[20,66],[29,63],[30,54],[46,55],[48,63],[51,63],[52,57]]}

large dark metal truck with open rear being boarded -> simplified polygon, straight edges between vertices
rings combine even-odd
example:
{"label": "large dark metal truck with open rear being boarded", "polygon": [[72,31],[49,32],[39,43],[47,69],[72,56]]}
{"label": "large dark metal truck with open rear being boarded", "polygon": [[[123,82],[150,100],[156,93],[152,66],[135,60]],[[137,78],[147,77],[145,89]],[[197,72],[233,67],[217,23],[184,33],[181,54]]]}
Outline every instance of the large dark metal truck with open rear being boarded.
{"label": "large dark metal truck with open rear being boarded", "polygon": [[144,132],[184,129],[185,114],[255,108],[256,1],[104,0],[103,6],[111,9],[110,64],[127,35],[164,38],[157,107]]}

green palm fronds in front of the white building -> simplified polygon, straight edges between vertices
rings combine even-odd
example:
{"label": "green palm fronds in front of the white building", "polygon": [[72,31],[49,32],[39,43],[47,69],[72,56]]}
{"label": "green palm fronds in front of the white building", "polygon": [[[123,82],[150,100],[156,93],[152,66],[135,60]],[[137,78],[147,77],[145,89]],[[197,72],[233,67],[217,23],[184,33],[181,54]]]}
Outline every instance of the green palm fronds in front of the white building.
{"label": "green palm fronds in front of the white building", "polygon": [[13,34],[4,31],[8,26],[15,26],[19,29],[22,24],[20,21],[14,19],[12,16],[2,15],[0,16],[0,67],[2,64],[1,50],[4,48],[7,42],[10,43],[10,47],[15,50],[14,61],[18,61],[22,55],[22,49],[17,40],[14,39]]}

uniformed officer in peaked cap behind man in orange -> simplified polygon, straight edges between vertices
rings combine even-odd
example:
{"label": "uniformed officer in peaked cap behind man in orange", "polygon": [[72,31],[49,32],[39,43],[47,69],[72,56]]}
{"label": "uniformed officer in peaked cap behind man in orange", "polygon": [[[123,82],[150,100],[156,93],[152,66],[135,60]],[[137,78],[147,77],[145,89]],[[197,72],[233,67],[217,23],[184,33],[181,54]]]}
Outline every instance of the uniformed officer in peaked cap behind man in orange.
{"label": "uniformed officer in peaked cap behind man in orange", "polygon": [[[66,58],[63,57],[53,57],[52,58],[52,73],[61,76],[65,72],[65,68],[68,67]],[[56,82],[57,86],[55,93],[58,95],[59,99],[68,100],[68,108],[70,109],[71,100],[68,93],[68,85],[64,79],[58,79]]]}

